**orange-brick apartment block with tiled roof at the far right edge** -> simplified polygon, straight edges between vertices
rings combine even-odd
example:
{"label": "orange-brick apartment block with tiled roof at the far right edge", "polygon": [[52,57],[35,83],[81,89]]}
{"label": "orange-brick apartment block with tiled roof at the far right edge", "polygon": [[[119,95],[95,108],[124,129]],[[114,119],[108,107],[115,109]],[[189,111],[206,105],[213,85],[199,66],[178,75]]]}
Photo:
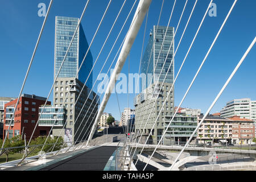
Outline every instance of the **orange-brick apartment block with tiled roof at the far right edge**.
{"label": "orange-brick apartment block with tiled roof at the far right edge", "polygon": [[232,140],[236,144],[250,144],[255,137],[254,121],[234,116],[228,118],[234,121],[232,125]]}

